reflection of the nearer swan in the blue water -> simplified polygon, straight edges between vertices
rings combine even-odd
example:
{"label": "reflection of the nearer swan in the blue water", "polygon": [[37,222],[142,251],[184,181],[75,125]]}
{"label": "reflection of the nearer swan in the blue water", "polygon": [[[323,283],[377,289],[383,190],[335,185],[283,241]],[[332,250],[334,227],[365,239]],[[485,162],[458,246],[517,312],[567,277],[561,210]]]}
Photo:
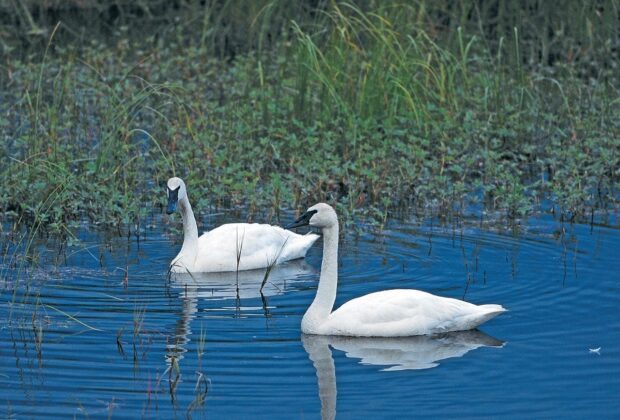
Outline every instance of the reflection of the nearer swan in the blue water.
{"label": "reflection of the nearer swan in the blue water", "polygon": [[361,364],[386,366],[383,371],[430,369],[440,360],[464,356],[478,347],[504,342],[478,330],[434,336],[372,338],[302,334],[301,341],[316,369],[323,419],[336,417],[336,369],[330,346]]}

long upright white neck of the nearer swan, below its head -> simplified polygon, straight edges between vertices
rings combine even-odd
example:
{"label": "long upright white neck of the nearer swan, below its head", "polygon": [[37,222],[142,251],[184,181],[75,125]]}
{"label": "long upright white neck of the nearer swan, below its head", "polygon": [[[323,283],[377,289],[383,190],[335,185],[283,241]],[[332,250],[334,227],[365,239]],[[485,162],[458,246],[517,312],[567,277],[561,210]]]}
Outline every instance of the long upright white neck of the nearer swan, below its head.
{"label": "long upright white neck of the nearer swan, below its head", "polygon": [[316,297],[306,311],[308,319],[321,323],[329,317],[338,287],[338,224],[323,228],[323,262]]}

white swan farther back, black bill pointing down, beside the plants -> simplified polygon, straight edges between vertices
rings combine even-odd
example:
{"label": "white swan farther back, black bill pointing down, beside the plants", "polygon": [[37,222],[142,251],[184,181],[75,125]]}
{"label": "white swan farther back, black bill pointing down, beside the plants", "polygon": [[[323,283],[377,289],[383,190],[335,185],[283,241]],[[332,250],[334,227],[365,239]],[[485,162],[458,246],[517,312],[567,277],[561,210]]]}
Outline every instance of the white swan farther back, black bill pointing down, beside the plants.
{"label": "white swan farther back, black bill pointing down, beside the plants", "polygon": [[279,226],[258,223],[229,223],[198,237],[198,228],[187,188],[181,178],[167,183],[168,208],[177,208],[183,218],[183,246],[170,263],[174,273],[206,273],[253,270],[272,265],[274,261],[303,258],[318,235],[298,235]]}

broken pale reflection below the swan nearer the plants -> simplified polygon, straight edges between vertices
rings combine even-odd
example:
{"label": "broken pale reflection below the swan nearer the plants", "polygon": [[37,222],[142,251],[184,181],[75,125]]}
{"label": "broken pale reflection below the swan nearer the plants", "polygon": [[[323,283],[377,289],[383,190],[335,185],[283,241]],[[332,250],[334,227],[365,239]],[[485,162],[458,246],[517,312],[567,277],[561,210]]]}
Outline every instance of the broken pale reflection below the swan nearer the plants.
{"label": "broken pale reflection below the swan nearer the plants", "polygon": [[248,299],[262,300],[262,309],[265,316],[269,316],[267,298],[296,288],[296,284],[303,283],[309,278],[316,277],[316,270],[303,259],[288,261],[273,266],[261,290],[266,269],[246,270],[239,272],[220,273],[171,273],[170,286],[178,290],[181,299],[181,312],[176,326],[168,340],[166,360],[172,357],[177,360],[183,358],[186,345],[192,334],[191,321],[198,312],[198,300],[219,302],[210,305],[209,311],[219,312],[222,316],[229,316],[223,312],[231,311],[239,315],[244,310],[256,310],[256,307],[244,307],[243,302]]}

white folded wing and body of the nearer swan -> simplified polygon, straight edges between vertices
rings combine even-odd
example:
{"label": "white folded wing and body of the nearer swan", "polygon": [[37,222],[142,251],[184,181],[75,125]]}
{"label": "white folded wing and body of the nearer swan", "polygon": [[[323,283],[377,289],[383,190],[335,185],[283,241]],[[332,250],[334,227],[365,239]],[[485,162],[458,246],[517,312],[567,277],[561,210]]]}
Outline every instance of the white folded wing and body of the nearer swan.
{"label": "white folded wing and body of the nearer swan", "polygon": [[479,308],[419,290],[386,290],[346,302],[330,315],[325,327],[353,336],[427,335],[475,328],[482,323]]}

